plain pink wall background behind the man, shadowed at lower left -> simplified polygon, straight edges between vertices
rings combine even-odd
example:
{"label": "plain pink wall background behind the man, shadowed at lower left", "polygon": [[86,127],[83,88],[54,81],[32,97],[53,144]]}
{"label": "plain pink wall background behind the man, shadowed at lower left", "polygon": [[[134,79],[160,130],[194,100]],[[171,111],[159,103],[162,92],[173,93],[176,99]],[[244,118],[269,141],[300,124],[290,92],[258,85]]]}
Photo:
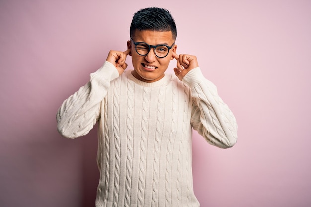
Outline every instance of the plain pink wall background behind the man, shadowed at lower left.
{"label": "plain pink wall background behind the man, shadowed at lower left", "polygon": [[310,207],[310,0],[1,0],[0,206],[93,206],[96,130],[62,138],[56,111],[149,6],[171,10],[177,53],[198,57],[238,121],[231,149],[194,135],[201,207]]}

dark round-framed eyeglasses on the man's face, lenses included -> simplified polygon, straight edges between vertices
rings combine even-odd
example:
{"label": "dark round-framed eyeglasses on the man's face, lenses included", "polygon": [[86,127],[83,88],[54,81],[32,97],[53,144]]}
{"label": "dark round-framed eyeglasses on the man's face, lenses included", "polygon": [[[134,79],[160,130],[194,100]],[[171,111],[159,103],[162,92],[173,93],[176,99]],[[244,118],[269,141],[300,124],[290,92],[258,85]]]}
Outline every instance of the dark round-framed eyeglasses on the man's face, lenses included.
{"label": "dark round-framed eyeglasses on the man's face, lenses included", "polygon": [[154,48],[156,57],[158,58],[165,58],[168,53],[169,50],[172,49],[173,45],[175,43],[173,43],[171,46],[168,45],[148,45],[146,42],[135,42],[132,37],[131,40],[133,41],[134,45],[135,45],[135,50],[137,52],[138,55],[141,56],[146,56],[149,51],[151,50],[151,48]]}

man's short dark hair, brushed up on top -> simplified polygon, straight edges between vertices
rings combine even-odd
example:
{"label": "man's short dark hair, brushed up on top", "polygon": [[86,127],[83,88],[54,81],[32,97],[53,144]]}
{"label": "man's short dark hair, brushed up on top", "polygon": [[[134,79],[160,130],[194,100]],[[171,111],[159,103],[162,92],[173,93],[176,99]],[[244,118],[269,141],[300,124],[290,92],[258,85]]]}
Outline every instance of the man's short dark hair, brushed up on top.
{"label": "man's short dark hair, brushed up on top", "polygon": [[171,13],[165,8],[149,7],[137,11],[132,19],[130,35],[134,36],[135,30],[171,31],[176,40],[177,29]]}

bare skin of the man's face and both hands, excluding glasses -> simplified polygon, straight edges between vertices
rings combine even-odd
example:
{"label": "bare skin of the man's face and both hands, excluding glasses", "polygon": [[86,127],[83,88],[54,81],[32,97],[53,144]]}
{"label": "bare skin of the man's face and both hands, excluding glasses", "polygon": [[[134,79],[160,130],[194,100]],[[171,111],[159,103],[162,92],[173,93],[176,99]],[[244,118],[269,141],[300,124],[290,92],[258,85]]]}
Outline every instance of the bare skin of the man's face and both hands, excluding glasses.
{"label": "bare skin of the man's face and both hands, excluding glasses", "polygon": [[[171,31],[151,31],[143,30],[135,31],[135,35],[132,37],[135,42],[146,42],[149,45],[172,45],[175,40],[172,37]],[[171,60],[176,59],[177,64],[174,68],[174,72],[179,80],[182,80],[183,77],[191,70],[198,67],[198,62],[196,56],[186,55],[176,53],[177,45],[173,45],[173,48],[170,49],[168,55],[165,58],[158,58],[154,50],[146,56],[138,55],[135,51],[135,45],[132,41],[127,41],[128,49],[124,52],[111,50],[108,54],[106,61],[114,64],[119,74],[121,75],[124,70],[127,68],[125,63],[127,55],[132,56],[132,64],[134,70],[132,74],[137,79],[143,82],[155,82],[164,77],[164,72],[168,68],[168,65]]]}

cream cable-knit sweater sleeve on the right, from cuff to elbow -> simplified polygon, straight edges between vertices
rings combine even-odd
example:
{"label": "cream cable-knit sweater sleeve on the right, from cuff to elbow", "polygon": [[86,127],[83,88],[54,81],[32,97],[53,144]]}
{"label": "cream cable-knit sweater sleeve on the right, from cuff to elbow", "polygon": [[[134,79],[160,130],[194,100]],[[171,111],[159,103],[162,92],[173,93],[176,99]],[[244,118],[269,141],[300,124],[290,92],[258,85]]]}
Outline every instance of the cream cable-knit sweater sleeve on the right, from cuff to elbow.
{"label": "cream cable-knit sweater sleeve on the right, from cuff to elbow", "polygon": [[218,96],[216,86],[194,68],[182,80],[191,88],[193,129],[208,143],[230,148],[237,141],[237,123],[229,107]]}

